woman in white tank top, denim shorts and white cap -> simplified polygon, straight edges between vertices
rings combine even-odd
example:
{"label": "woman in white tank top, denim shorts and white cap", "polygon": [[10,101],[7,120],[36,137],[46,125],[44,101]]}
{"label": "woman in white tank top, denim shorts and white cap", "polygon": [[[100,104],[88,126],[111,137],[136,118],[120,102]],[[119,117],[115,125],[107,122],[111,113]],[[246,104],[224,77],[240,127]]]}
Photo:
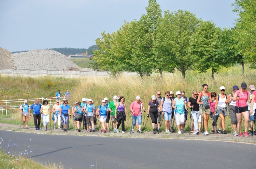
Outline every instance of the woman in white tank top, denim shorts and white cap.
{"label": "woman in white tank top, denim shorts and white cap", "polygon": [[[221,125],[223,128],[223,134],[227,134],[227,131],[225,129],[225,117],[228,115],[227,105],[225,102],[227,99],[227,95],[225,94],[226,89],[224,86],[221,86],[219,88],[219,90],[221,91],[221,93],[218,94],[216,97],[216,103],[215,103],[215,107],[214,107],[214,116],[216,116],[216,112],[217,112],[219,117],[221,117]],[[218,132],[222,133],[220,128],[219,128]]]}

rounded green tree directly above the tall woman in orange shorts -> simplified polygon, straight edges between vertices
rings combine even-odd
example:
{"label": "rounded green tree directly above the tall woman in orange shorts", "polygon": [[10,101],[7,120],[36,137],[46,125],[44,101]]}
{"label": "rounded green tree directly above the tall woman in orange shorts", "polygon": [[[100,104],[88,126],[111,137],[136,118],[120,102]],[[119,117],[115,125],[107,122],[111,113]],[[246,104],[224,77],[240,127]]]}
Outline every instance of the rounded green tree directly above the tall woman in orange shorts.
{"label": "rounded green tree directly above the tall woman in orange shorts", "polygon": [[214,73],[217,73],[219,66],[222,65],[222,60],[217,57],[217,50],[220,48],[217,37],[220,32],[221,29],[215,27],[211,21],[203,21],[189,41],[190,54],[196,60],[194,68],[200,73],[211,69],[212,79],[214,79]]}

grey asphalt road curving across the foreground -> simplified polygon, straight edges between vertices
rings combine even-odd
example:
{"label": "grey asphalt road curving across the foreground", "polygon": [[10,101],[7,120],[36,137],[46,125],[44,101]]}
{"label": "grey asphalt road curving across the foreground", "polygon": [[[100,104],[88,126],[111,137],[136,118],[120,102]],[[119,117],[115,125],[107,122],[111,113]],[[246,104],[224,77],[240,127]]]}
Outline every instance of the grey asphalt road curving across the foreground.
{"label": "grey asphalt road curving across the foreground", "polygon": [[[5,145],[64,168],[255,168],[256,145],[217,141],[30,134],[0,130]],[[29,140],[31,139],[31,140]],[[28,147],[30,146],[30,147]],[[34,149],[35,148],[35,149]],[[33,150],[34,149],[34,150]],[[12,149],[9,149],[11,151]],[[33,151],[30,153],[30,151]]]}

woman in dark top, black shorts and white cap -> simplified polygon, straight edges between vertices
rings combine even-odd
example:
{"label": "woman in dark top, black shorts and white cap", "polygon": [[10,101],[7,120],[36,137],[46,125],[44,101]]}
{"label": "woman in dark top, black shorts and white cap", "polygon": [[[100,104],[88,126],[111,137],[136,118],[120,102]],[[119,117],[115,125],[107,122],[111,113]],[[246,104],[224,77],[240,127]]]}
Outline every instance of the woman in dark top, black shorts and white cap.
{"label": "woman in dark top, black shorts and white cap", "polygon": [[147,109],[147,118],[150,116],[152,120],[153,134],[156,134],[156,123],[158,117],[158,110],[161,111],[158,101],[156,100],[156,96],[152,95],[151,100],[148,103]]}

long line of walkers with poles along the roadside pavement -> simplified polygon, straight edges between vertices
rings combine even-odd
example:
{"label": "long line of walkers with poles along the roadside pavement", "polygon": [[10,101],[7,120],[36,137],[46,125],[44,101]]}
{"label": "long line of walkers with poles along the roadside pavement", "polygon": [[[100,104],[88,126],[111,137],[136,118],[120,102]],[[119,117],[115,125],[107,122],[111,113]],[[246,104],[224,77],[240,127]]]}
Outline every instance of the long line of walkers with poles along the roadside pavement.
{"label": "long line of walkers with poles along the roadside pavement", "polygon": [[[203,132],[204,135],[209,135],[208,120],[212,118],[212,133],[227,134],[225,126],[225,118],[229,114],[232,130],[234,136],[248,137],[248,135],[256,135],[254,128],[255,123],[255,109],[256,109],[256,91],[255,86],[250,85],[249,91],[246,91],[247,84],[243,82],[241,88],[233,86],[233,92],[225,94],[225,87],[219,88],[219,94],[215,92],[208,92],[208,85],[202,85],[203,91],[192,91],[191,97],[187,98],[185,92],[166,91],[165,97],[161,97],[161,92],[157,91],[156,95],[152,95],[147,107],[147,118],[151,117],[153,133],[161,132],[161,125],[163,119],[165,119],[165,133],[170,134],[178,130],[178,134],[186,132],[184,130],[185,123],[188,115],[188,108],[190,108],[190,118],[193,117],[193,125],[190,132],[199,134]],[[69,91],[68,91],[69,92]],[[59,93],[59,91],[58,91]],[[58,95],[56,93],[56,95]],[[60,94],[58,96],[61,96]],[[227,106],[228,105],[228,106]],[[72,110],[71,110],[72,108]],[[33,110],[34,125],[36,130],[40,130],[41,114],[43,118],[44,130],[47,130],[49,124],[49,115],[53,112],[52,120],[54,121],[54,129],[58,122],[58,129],[63,131],[69,130],[69,121],[71,114],[73,115],[73,126],[75,131],[81,132],[81,125],[83,121],[83,130],[85,132],[95,132],[97,130],[97,117],[100,121],[99,129],[102,133],[110,132],[110,127],[114,129],[114,133],[119,133],[119,127],[122,125],[121,131],[125,133],[125,121],[126,121],[126,105],[125,98],[123,96],[114,96],[113,100],[109,102],[105,97],[101,101],[101,105],[97,108],[94,106],[93,100],[82,98],[82,102],[75,101],[73,106],[68,104],[68,100],[63,100],[63,104],[60,104],[60,98],[57,98],[56,104],[51,109],[47,100],[43,100],[42,105],[39,104],[39,100],[34,100],[34,104],[30,107],[27,104],[27,100],[20,106],[20,112],[23,115],[23,128],[27,127],[28,118],[31,116],[31,110]],[[142,133],[145,126],[145,115],[142,125],[143,112],[146,112],[143,101],[140,96],[136,96],[135,100],[129,107],[131,113],[132,124],[130,133],[134,133],[134,127],[137,127],[137,132]],[[241,132],[242,115],[244,117],[244,132]],[[203,119],[203,121],[201,120]],[[173,119],[173,123],[172,123]],[[217,128],[217,120],[220,119],[219,127]],[[146,123],[147,123],[146,119]],[[176,126],[174,124],[176,120]],[[250,129],[247,132],[250,120]],[[110,121],[110,123],[109,123]],[[203,131],[201,130],[203,122]],[[26,124],[25,124],[26,123]],[[110,125],[109,125],[110,124]],[[142,125],[142,127],[141,127]],[[237,130],[238,129],[238,130]]]}

